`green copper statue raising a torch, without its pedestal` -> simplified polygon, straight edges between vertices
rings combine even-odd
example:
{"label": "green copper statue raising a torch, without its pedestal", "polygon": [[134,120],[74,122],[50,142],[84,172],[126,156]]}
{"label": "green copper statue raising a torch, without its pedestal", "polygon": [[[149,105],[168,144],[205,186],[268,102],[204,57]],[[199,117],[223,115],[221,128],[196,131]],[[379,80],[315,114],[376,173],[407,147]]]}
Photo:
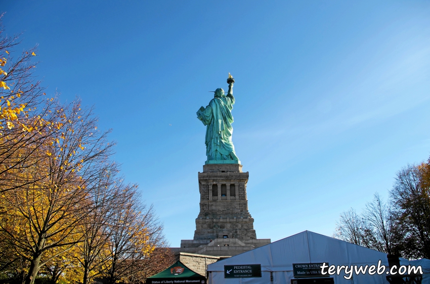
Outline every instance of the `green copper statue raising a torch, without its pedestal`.
{"label": "green copper statue raising a torch, without its pedestal", "polygon": [[216,89],[214,98],[206,108],[197,111],[197,118],[206,125],[206,156],[205,164],[240,164],[234,152],[231,135],[233,133],[234,78],[229,73],[227,79],[229,91],[227,96],[222,88]]}

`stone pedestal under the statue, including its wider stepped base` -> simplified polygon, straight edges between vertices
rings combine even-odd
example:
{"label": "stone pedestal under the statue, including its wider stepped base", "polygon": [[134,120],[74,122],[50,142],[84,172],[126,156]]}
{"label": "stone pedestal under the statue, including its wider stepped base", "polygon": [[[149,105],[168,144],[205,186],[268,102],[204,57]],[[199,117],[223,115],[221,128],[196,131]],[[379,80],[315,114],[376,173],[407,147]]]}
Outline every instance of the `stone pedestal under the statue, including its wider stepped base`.
{"label": "stone pedestal under the statue, including its wider stepped base", "polygon": [[232,256],[270,244],[270,239],[256,239],[246,197],[248,177],[240,164],[204,165],[198,173],[200,213],[194,239],[182,240],[181,248],[173,250]]}

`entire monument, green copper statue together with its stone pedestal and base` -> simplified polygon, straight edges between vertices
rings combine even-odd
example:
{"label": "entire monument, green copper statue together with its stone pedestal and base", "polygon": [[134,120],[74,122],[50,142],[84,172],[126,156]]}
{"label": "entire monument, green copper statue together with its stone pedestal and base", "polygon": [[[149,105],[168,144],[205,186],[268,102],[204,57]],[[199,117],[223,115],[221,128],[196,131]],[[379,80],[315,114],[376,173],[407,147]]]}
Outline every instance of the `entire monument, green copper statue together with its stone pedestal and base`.
{"label": "entire monument, green copper statue together with its stone pedestal and base", "polygon": [[231,111],[234,79],[229,74],[227,96],[222,88],[197,118],[206,126],[206,156],[203,172],[198,173],[200,213],[193,240],[182,240],[177,253],[233,256],[270,243],[257,239],[254,219],[248,212],[246,184],[249,173],[242,172],[232,142]]}

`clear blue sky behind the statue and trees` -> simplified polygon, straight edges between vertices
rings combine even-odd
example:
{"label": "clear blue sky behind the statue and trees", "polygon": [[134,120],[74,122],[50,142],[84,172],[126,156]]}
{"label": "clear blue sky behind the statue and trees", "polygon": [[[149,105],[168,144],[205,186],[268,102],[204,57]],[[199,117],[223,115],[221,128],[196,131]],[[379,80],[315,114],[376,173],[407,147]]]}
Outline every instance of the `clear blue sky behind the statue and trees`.
{"label": "clear blue sky behind the statue and trees", "polygon": [[[2,1],[62,101],[95,105],[172,246],[192,239],[196,118],[236,79],[233,143],[257,238],[332,235],[430,155],[428,1]],[[171,124],[171,126],[169,125]]]}

